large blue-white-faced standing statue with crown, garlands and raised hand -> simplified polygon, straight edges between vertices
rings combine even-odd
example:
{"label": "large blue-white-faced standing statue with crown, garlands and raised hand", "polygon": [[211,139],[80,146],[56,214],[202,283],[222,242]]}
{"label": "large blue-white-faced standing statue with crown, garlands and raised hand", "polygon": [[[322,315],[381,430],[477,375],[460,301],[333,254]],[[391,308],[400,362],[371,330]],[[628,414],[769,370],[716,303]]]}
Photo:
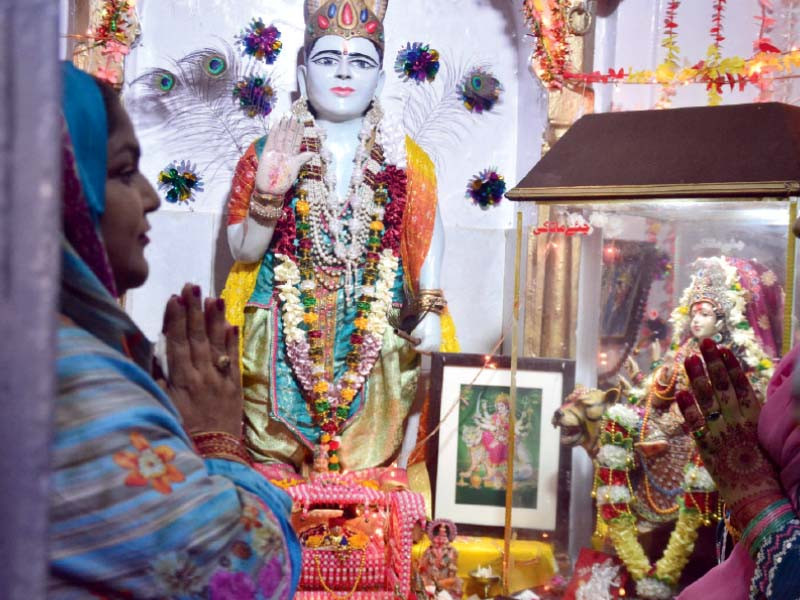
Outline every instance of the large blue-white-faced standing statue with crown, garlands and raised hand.
{"label": "large blue-white-faced standing statue with crown, garlands and raised hand", "polygon": [[419,353],[457,349],[434,166],[378,100],[387,4],[305,0],[300,98],[232,183],[223,298],[242,331],[245,440],[270,479],[407,454]]}

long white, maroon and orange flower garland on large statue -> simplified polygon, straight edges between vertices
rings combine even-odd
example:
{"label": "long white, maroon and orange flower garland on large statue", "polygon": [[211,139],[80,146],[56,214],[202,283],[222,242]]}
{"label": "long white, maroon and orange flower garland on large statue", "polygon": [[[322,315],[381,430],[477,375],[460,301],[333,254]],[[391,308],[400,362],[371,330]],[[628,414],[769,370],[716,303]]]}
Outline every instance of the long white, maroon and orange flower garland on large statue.
{"label": "long white, maroon and orange flower garland on large statue", "polygon": [[[298,191],[294,211],[288,211],[294,212],[294,220],[281,219],[284,229],[278,239],[279,244],[287,241],[288,228],[294,225],[296,252],[275,255],[278,261],[275,267],[276,291],[282,302],[287,353],[309,400],[311,412],[322,430],[318,448],[320,453],[324,453],[321,459],[330,471],[341,470],[339,433],[350,416],[353,400],[380,354],[399,268],[397,254],[405,205],[405,172],[387,166],[375,176],[375,187],[375,212],[367,238],[362,293],[356,303],[351,349],[345,359],[348,368],[339,381],[330,381],[325,374],[324,339],[319,328],[317,286],[309,237],[311,207],[304,190]],[[396,194],[392,202],[389,202],[387,188]],[[397,205],[392,207],[395,203]],[[392,235],[386,239],[389,232]]]}

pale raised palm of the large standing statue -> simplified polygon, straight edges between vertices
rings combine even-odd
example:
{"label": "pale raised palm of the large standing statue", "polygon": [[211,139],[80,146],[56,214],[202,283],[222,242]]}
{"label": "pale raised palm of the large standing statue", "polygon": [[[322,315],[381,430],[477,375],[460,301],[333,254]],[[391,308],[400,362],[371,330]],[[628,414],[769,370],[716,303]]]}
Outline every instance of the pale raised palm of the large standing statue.
{"label": "pale raised palm of the large standing statue", "polygon": [[256,171],[258,193],[283,196],[289,191],[300,169],[314,156],[300,152],[302,141],[303,124],[294,117],[284,117],[272,127]]}

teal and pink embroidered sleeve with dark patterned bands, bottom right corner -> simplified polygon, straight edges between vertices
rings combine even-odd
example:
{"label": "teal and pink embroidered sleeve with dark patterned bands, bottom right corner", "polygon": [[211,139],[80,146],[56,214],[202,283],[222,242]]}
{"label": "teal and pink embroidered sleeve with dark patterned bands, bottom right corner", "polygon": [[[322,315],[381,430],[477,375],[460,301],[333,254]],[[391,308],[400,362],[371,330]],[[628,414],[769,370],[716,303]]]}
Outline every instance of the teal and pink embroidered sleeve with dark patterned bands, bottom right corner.
{"label": "teal and pink embroidered sleeve with dark patterned bands, bottom right corner", "polygon": [[742,535],[752,542],[749,548],[756,563],[750,598],[800,598],[800,520],[789,501],[770,505],[753,521],[753,530],[748,527]]}

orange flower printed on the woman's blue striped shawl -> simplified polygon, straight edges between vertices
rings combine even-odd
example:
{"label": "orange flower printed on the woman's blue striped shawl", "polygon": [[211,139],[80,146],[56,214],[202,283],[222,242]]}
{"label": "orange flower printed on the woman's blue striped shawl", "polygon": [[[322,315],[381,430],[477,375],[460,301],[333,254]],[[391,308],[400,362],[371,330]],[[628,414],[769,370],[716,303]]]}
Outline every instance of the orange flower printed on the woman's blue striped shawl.
{"label": "orange flower printed on the woman's blue striped shawl", "polygon": [[185,479],[183,473],[170,464],[175,460],[175,451],[169,446],[151,448],[147,439],[138,432],[131,433],[130,438],[136,452],[123,450],[114,454],[114,462],[123,469],[130,470],[125,478],[125,485],[152,485],[161,494],[171,493],[170,484],[180,483]]}

